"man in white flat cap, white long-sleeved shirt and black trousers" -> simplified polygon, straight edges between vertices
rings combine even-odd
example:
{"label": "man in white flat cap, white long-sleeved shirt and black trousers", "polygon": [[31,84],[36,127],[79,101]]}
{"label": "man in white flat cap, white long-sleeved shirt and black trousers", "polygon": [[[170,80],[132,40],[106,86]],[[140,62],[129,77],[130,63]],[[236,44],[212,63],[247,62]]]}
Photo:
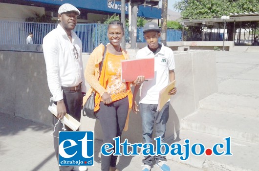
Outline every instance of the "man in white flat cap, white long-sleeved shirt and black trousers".
{"label": "man in white flat cap, white long-sleeved shirt and black trousers", "polygon": [[[43,53],[46,63],[47,82],[52,94],[51,100],[57,105],[57,117],[53,115],[54,149],[59,159],[59,121],[66,113],[80,121],[83,94],[86,92],[82,62],[82,42],[74,33],[80,11],[65,3],[58,11],[57,28],[43,39]],[[65,126],[66,130],[71,130]],[[60,171],[86,171],[87,167],[60,166]]]}

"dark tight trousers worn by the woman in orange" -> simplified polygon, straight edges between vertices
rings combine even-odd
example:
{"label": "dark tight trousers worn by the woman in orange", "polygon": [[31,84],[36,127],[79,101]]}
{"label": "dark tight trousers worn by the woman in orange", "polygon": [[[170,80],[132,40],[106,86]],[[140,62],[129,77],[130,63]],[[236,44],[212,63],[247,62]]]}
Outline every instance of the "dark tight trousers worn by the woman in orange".
{"label": "dark tight trousers worn by the woman in orange", "polygon": [[[103,102],[100,103],[100,109],[97,112],[97,116],[103,130],[103,144],[111,143],[114,146],[115,143],[112,139],[117,136],[121,136],[128,116],[128,110],[128,96],[121,100],[112,102],[109,105],[105,105]],[[115,167],[117,157],[118,156],[114,155],[104,156],[102,154],[102,171],[109,171],[109,167]]]}

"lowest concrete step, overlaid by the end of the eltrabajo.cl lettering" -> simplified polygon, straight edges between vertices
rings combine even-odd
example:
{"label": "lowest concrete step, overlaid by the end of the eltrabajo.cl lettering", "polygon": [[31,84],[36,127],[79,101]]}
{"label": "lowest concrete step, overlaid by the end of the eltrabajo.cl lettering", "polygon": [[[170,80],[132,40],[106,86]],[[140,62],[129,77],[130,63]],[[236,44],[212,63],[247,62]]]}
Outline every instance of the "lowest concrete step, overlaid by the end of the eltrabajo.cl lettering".
{"label": "lowest concrete step, overlaid by the end of the eltrabajo.cl lettering", "polygon": [[[216,143],[226,144],[226,137],[215,136],[206,133],[200,133],[192,130],[180,130],[180,141],[169,142],[179,143],[185,145],[185,139],[190,140],[190,147],[196,143],[201,143],[205,149],[212,148]],[[231,138],[231,153],[233,155],[220,155],[212,154],[207,156],[205,154],[195,156],[190,154],[188,160],[181,160],[178,155],[168,155],[167,158],[176,162],[181,162],[204,171],[259,171],[259,144],[239,141]],[[183,152],[184,152],[183,148]],[[224,151],[218,148],[218,152]],[[185,155],[185,154],[184,154]]]}

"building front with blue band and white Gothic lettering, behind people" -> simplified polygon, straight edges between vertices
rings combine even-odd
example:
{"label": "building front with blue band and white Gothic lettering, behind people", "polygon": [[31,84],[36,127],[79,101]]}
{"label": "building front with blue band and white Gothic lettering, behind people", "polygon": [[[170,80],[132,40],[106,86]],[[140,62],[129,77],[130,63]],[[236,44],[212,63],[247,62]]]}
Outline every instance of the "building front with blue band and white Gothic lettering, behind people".
{"label": "building front with blue band and white Gothic lettering, behind people", "polygon": [[[80,10],[78,22],[82,23],[96,23],[104,21],[114,13],[121,14],[121,2],[113,0],[2,0],[1,2],[3,3],[0,3],[0,21],[25,21],[26,18],[35,17],[35,13],[45,14],[57,20],[58,9],[64,3],[71,3]],[[130,9],[129,3],[126,3],[126,18],[129,17]],[[161,8],[139,5],[137,16],[161,19]]]}

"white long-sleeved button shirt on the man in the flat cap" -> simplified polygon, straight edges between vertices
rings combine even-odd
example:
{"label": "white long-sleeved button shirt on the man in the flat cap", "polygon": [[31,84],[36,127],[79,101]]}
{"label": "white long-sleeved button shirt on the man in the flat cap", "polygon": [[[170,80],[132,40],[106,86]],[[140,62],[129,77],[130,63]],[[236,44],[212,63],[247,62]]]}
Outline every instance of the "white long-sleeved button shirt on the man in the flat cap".
{"label": "white long-sleeved button shirt on the man in the flat cap", "polygon": [[[82,62],[82,42],[71,30],[72,43],[63,27],[49,32],[43,39],[43,53],[47,70],[47,81],[54,101],[63,99],[61,86],[77,86],[81,82],[82,92],[86,92]],[[76,59],[77,49],[78,59]]]}

